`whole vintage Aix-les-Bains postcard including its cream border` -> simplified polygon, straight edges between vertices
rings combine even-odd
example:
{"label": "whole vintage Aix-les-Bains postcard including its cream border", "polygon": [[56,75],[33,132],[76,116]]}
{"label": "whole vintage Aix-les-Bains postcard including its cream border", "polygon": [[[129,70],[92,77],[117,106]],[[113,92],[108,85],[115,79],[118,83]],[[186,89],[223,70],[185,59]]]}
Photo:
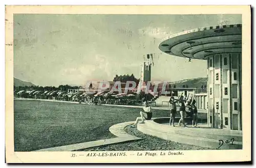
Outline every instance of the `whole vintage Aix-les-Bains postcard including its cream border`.
{"label": "whole vintage Aix-les-Bains postcard including its cream border", "polygon": [[251,160],[250,6],[6,6],[6,162]]}

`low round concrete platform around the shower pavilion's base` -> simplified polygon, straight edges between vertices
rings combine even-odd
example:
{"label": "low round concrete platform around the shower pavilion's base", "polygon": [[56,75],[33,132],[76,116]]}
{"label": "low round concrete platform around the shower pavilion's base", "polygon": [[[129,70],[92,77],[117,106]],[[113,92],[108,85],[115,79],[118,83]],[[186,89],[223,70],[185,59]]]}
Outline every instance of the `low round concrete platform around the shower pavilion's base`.
{"label": "low round concrete platform around the shower pavilion's base", "polygon": [[[179,119],[179,118],[177,118]],[[187,143],[201,147],[217,149],[221,140],[231,140],[232,143],[225,143],[218,149],[242,149],[242,131],[215,129],[202,126],[194,127],[170,127],[163,123],[168,123],[169,117],[153,118],[145,121],[145,124],[138,124],[137,129],[147,135],[156,136],[165,140],[180,143]]]}

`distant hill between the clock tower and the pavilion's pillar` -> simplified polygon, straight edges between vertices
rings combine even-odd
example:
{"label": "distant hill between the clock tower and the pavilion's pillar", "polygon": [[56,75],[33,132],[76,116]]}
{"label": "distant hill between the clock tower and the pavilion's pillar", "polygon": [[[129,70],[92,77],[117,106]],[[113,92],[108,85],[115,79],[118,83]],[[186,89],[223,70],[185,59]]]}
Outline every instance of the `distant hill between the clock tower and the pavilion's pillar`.
{"label": "distant hill between the clock tower and the pavilion's pillar", "polygon": [[201,86],[207,86],[207,78],[194,78],[194,79],[185,79],[176,82],[168,82],[172,87],[176,85],[176,87],[182,87],[183,85],[187,85],[188,87],[197,87],[201,88]]}

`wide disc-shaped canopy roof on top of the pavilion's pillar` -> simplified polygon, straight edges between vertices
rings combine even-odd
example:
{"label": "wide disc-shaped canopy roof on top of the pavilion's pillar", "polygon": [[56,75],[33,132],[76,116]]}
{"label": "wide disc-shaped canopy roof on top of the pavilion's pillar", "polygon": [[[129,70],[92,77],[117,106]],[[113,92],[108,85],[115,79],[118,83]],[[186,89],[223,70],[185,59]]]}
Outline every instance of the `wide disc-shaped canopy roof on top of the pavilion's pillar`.
{"label": "wide disc-shaped canopy roof on top of the pavilion's pillar", "polygon": [[242,53],[242,25],[198,28],[168,36],[159,49],[169,55],[207,59],[224,53]]}

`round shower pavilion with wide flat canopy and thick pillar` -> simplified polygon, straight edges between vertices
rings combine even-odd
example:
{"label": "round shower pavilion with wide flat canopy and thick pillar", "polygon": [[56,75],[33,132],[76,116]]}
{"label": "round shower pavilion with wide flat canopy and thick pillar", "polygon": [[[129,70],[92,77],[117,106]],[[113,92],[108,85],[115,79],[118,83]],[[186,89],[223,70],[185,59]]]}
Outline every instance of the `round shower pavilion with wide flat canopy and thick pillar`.
{"label": "round shower pavilion with wide flat canopy and thick pillar", "polygon": [[[242,25],[184,31],[161,40],[169,55],[207,61],[208,126],[242,130]],[[195,66],[196,68],[196,66]]]}

